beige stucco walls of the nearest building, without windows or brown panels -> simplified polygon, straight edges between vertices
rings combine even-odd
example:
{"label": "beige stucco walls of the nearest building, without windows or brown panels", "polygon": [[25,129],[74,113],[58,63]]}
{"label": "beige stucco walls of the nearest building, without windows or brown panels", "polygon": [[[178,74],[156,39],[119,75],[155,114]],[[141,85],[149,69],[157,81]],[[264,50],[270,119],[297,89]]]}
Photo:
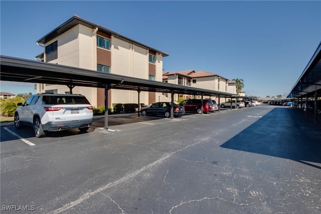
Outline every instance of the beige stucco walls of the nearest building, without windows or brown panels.
{"label": "beige stucco walls of the nearest building, without windows or brown panels", "polygon": [[[94,29],[77,25],[52,41],[45,44],[49,45],[58,40],[58,58],[50,63],[67,65],[77,68],[97,70],[96,53],[96,33]],[[111,37],[111,73],[148,79],[148,50],[130,44],[128,42]],[[163,77],[163,57],[156,54],[156,75],[155,80],[162,82]],[[40,84],[37,84],[37,93],[45,90],[58,89],[58,93],[69,92],[69,88],[64,85],[46,85],[41,90]],[[111,89],[111,103],[138,103],[137,91],[115,90]],[[96,106],[97,89],[88,87],[74,87],[73,93],[83,94],[89,102]],[[162,93],[156,93],[163,97]],[[164,98],[164,97],[163,97]],[[166,99],[166,98],[164,98]],[[140,92],[140,103],[148,104],[148,92]]]}

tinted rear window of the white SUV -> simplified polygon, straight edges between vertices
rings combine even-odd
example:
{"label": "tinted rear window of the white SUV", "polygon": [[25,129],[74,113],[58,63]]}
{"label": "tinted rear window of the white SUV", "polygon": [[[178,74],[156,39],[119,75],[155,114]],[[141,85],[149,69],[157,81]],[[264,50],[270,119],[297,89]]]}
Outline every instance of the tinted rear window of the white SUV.
{"label": "tinted rear window of the white SUV", "polygon": [[88,104],[89,101],[86,97],[80,96],[43,96],[42,101],[46,105],[56,105],[56,104]]}

